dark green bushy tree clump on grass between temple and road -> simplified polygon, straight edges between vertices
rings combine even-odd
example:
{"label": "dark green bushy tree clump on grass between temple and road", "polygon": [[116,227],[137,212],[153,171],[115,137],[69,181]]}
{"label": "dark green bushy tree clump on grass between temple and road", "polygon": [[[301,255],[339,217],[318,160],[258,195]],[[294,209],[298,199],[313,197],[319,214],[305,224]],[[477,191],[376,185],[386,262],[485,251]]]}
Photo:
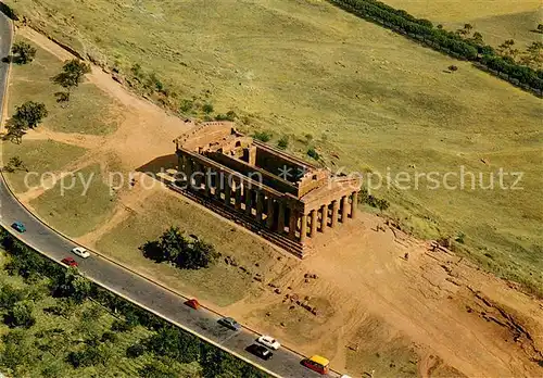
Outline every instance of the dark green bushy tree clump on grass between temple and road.
{"label": "dark green bushy tree clump on grass between temple and road", "polygon": [[181,269],[206,268],[219,257],[215,248],[200,239],[185,237],[178,227],[169,227],[157,240],[140,247],[143,256],[156,263],[168,262]]}

